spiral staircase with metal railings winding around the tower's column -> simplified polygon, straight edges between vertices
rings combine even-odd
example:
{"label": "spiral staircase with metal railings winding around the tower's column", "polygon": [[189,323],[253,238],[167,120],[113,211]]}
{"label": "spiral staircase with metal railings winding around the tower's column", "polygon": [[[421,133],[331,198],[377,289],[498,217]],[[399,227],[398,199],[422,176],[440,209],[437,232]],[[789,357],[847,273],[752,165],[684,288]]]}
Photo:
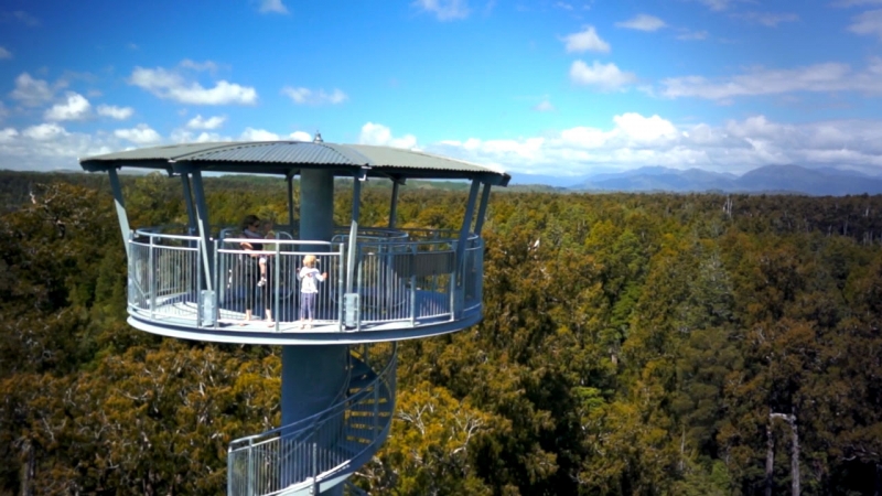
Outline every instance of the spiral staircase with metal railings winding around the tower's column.
{"label": "spiral staircase with metal railings winding around the tower's column", "polygon": [[[351,370],[368,375],[364,386],[347,388],[341,401],[290,425],[241,438],[229,444],[227,494],[279,494],[294,486],[313,486],[318,494],[343,479],[379,449],[389,433],[395,410],[395,345],[375,345],[372,367],[366,354],[351,357]],[[352,382],[351,382],[352,385]]]}

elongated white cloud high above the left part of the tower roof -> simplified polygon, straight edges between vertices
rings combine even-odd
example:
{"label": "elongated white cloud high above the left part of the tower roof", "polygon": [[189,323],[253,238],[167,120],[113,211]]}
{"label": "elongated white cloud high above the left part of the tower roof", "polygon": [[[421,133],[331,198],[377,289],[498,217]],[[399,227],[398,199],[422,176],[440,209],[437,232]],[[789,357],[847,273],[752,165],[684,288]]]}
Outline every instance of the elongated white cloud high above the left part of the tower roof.
{"label": "elongated white cloud high above the left part of the tower roof", "polygon": [[163,68],[135,67],[129,84],[163,99],[193,105],[252,105],[257,91],[252,87],[219,80],[213,88],[204,88],[196,82],[187,82],[178,73]]}

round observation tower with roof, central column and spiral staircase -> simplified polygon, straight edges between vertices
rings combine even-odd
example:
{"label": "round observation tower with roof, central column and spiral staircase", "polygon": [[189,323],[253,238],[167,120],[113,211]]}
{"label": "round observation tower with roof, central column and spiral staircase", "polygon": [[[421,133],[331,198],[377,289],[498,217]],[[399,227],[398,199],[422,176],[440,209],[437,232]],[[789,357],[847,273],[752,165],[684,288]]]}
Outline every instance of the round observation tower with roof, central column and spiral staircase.
{"label": "round observation tower with roof, central column and spiral staircase", "polygon": [[[320,140],[175,144],[79,163],[110,177],[128,257],[130,325],[163,336],[282,347],[281,425],[229,444],[227,493],[361,494],[347,478],[389,434],[396,342],[456,332],[482,319],[481,227],[491,186],[506,186],[510,176],[419,151]],[[181,181],[189,225],[130,227],[118,176],[123,168]],[[255,239],[240,226],[212,224],[205,172],[283,177],[288,224],[259,240],[259,252],[245,249],[243,242]],[[352,212],[343,213],[349,225],[334,225],[337,179],[352,185],[337,193],[352,195]],[[391,182],[388,225],[358,225],[368,179]],[[460,229],[398,228],[398,191],[408,179],[470,182]],[[327,274],[316,284],[312,325],[299,315],[303,282],[297,276],[306,256]],[[258,258],[266,260],[261,285]],[[261,320],[265,309],[271,321]]]}

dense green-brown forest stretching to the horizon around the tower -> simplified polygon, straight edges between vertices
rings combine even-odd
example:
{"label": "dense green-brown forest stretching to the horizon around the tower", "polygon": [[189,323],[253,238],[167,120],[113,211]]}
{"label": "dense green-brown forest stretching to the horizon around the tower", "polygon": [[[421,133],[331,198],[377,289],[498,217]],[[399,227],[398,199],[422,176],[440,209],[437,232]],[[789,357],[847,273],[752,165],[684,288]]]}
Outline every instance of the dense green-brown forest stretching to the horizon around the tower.
{"label": "dense green-brown forest stretching to the horizon around the tower", "polygon": [[[180,181],[123,180],[132,226],[185,220]],[[206,190],[215,224],[287,218],[280,180]],[[459,228],[454,190],[404,187],[398,225]],[[224,493],[227,443],[279,420],[279,349],[129,327],[106,176],[0,198],[0,495]],[[496,191],[483,234],[484,321],[401,344],[370,494],[882,490],[882,197]]]}

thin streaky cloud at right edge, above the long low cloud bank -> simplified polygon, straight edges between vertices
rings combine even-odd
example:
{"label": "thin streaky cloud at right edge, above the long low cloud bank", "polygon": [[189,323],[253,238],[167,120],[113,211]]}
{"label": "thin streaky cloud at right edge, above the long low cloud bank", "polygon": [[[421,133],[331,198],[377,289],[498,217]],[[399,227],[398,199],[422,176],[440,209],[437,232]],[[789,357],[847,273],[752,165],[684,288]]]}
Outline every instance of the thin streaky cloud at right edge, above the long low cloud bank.
{"label": "thin streaky cloud at right edge, above the long low cloud bank", "polygon": [[734,97],[779,95],[795,91],[882,93],[882,58],[871,58],[863,71],[848,64],[822,63],[793,69],[757,67],[735,76],[708,79],[703,76],[662,80],[660,94],[668,98],[695,97],[725,101]]}

